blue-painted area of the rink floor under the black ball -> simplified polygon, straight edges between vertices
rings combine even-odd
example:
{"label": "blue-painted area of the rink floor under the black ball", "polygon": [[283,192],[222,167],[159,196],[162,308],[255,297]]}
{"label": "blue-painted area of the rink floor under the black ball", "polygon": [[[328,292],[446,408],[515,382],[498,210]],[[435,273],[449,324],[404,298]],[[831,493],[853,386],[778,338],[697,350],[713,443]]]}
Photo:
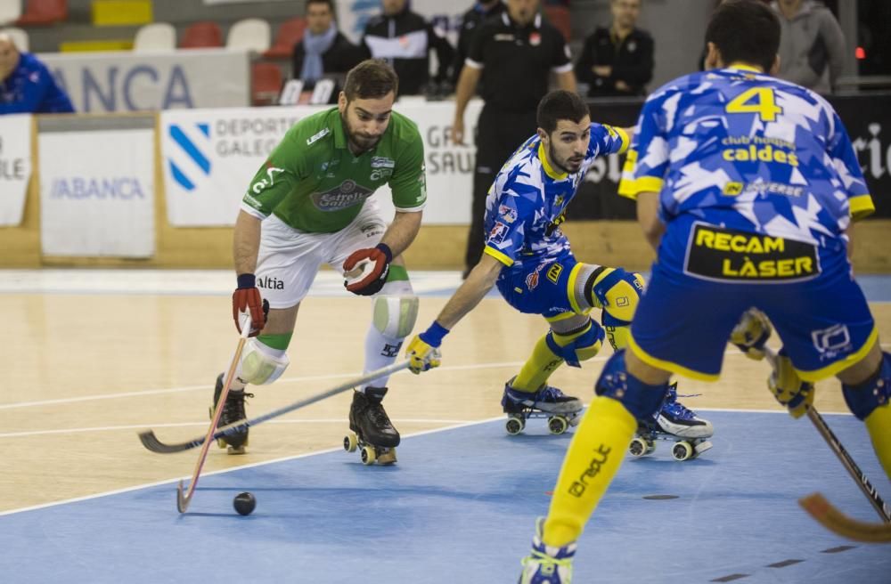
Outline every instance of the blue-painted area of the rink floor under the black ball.
{"label": "blue-painted area of the rink floor under the black ball", "polygon": [[[711,411],[715,448],[627,459],[579,541],[575,582],[891,582],[891,547],[839,539],[796,499],[878,521],[806,419]],[[864,428],[827,416],[879,491]],[[539,422],[535,424],[535,422]],[[0,516],[3,582],[512,582],[569,435],[503,420],[405,438],[397,466],[328,451]],[[171,456],[192,456],[187,454]],[[257,496],[236,515],[233,496]],[[676,499],[647,499],[670,495]]]}

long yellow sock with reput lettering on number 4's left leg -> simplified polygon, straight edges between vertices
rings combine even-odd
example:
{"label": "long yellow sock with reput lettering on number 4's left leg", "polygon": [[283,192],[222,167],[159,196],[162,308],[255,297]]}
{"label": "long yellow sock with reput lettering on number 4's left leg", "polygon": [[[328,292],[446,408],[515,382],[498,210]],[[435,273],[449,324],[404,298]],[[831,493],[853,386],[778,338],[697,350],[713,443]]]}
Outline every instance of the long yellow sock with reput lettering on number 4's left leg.
{"label": "long yellow sock with reput lettering on number 4's left leg", "polygon": [[636,429],[637,420],[619,401],[594,398],[563,459],[544,522],[544,543],[563,547],[578,539],[622,464]]}

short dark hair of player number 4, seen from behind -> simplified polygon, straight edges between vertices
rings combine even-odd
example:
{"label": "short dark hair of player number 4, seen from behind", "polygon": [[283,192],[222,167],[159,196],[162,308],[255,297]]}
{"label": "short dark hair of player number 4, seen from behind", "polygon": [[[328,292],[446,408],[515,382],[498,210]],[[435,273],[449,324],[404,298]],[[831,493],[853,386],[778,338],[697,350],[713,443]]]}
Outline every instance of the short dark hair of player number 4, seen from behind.
{"label": "short dark hair of player number 4, seen from behind", "polygon": [[757,0],[728,0],[708,20],[706,42],[715,44],[725,65],[742,61],[770,71],[780,50],[780,20]]}

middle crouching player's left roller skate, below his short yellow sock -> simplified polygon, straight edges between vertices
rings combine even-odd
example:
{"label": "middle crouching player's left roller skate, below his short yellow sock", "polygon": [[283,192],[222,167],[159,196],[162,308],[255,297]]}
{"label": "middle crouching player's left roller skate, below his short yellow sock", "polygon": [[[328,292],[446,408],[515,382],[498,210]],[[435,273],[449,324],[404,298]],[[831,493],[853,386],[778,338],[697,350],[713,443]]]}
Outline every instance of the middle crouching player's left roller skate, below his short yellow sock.
{"label": "middle crouching player's left roller skate, below his short yellow sock", "polygon": [[521,392],[511,387],[511,381],[504,384],[502,408],[507,414],[504,429],[508,434],[519,434],[526,427],[529,418],[548,418],[551,434],[563,434],[569,426],[577,426],[581,421],[582,401],[561,392],[551,385],[542,385],[535,393]]}

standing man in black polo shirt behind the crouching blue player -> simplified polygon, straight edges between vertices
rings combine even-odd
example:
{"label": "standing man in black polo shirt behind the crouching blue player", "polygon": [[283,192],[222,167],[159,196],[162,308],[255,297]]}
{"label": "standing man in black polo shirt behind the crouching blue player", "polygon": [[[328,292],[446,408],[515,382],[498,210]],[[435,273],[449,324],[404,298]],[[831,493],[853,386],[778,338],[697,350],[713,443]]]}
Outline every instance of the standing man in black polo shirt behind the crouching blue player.
{"label": "standing man in black polo shirt behind the crouching blue player", "polygon": [[477,122],[465,278],[483,253],[486,193],[511,153],[535,134],[535,109],[548,92],[551,71],[556,73],[560,89],[576,91],[569,47],[560,31],[542,20],[538,0],[507,0],[507,12],[486,20],[470,42],[455,89],[455,143],[464,141],[464,110],[480,79],[486,104]]}

